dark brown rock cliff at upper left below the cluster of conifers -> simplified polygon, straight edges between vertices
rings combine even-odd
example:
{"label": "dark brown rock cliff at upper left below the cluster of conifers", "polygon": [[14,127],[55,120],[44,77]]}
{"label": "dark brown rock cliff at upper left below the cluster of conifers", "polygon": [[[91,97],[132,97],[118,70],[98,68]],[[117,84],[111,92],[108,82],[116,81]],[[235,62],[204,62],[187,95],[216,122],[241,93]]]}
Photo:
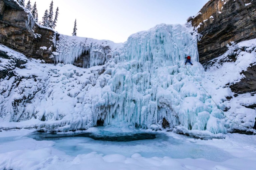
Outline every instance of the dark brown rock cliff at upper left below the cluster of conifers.
{"label": "dark brown rock cliff at upper left below the cluster of conifers", "polygon": [[0,42],[28,57],[53,63],[56,32],[36,24],[17,2],[0,1]]}

